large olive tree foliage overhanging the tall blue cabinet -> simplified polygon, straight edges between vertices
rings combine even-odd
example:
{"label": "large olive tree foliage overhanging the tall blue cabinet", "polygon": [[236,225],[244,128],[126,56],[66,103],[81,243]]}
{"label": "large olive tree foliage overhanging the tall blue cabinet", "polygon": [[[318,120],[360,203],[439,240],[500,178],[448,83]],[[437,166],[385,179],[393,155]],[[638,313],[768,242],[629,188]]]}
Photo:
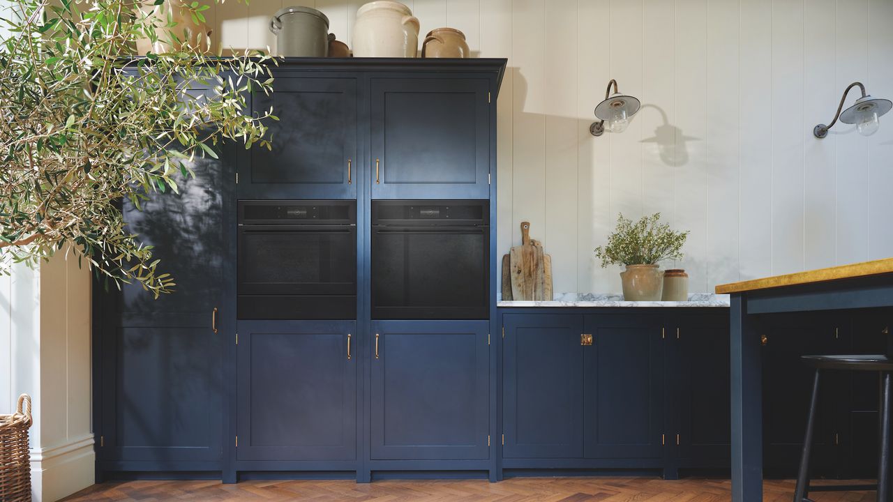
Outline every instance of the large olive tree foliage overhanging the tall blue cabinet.
{"label": "large olive tree foliage overhanging the tall blue cabinet", "polygon": [[[176,47],[129,57],[159,32],[177,38],[172,17],[139,10],[147,1],[13,0],[0,16],[0,273],[64,248],[116,284],[170,292],[173,278],[125,225],[121,199],[140,207],[176,192],[222,141],[270,147],[264,121],[275,117],[252,113],[247,96],[271,92],[271,57]],[[197,1],[177,5],[204,20]]]}

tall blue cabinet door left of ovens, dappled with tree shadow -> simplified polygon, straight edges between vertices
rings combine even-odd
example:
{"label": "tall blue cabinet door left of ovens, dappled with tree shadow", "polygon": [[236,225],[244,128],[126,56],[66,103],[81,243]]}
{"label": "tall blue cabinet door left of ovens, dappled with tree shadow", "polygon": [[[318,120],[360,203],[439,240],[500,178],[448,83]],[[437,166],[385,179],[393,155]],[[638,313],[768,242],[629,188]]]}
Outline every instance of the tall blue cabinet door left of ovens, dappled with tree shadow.
{"label": "tall blue cabinet door left of ovens, dappled with tree shadow", "polygon": [[223,344],[235,328],[232,171],[211,158],[192,168],[195,178],[177,180],[179,193],[153,193],[142,211],[122,206],[128,230],[154,247],[175,291],[155,299],[138,284],[94,285],[104,470],[221,469]]}

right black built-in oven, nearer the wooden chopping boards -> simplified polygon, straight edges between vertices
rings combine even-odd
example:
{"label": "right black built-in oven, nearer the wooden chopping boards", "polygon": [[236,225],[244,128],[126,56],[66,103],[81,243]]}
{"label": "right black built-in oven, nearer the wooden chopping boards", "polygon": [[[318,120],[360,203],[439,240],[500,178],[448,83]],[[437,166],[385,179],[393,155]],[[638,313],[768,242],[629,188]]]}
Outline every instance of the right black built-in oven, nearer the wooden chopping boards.
{"label": "right black built-in oven, nearer the wooden chopping boards", "polygon": [[371,203],[373,319],[488,318],[489,203]]}

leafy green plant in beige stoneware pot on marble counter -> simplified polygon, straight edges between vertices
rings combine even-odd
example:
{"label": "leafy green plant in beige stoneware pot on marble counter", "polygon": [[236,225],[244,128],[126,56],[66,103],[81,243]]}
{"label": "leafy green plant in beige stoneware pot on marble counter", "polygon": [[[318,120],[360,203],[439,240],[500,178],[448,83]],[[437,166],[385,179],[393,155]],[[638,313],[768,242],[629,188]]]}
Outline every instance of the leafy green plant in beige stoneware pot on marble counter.
{"label": "leafy green plant in beige stoneware pot on marble counter", "polygon": [[661,213],[654,213],[633,223],[621,213],[607,244],[596,248],[602,267],[626,265],[626,270],[620,272],[626,300],[660,300],[663,275],[659,263],[682,257],[681,249],[689,232],[672,230],[660,219]]}

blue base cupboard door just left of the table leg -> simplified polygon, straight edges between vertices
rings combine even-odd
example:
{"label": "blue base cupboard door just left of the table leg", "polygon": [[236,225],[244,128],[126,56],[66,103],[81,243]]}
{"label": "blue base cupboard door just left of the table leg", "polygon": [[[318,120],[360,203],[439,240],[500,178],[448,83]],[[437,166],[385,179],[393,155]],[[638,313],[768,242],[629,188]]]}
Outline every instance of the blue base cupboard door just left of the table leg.
{"label": "blue base cupboard door just left of the table leg", "polygon": [[679,407],[679,456],[689,467],[729,467],[729,314],[684,314],[669,342],[678,355],[668,378]]}

